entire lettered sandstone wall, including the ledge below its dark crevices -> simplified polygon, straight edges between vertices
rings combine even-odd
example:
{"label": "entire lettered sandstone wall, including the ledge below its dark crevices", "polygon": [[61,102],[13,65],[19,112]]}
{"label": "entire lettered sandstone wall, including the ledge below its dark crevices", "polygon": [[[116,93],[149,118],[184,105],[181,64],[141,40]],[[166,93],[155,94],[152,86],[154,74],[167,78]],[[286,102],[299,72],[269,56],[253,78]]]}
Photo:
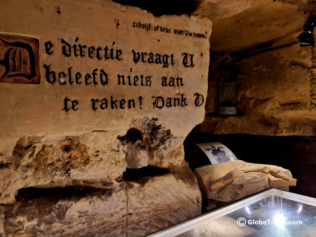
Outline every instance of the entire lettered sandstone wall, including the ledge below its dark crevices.
{"label": "entire lettered sandstone wall, including the ledge below its dark crevices", "polygon": [[0,231],[140,236],[200,214],[183,142],[204,119],[211,21],[98,0],[1,9],[0,60],[13,49],[9,72],[28,73],[10,44],[31,37],[40,84],[0,66]]}

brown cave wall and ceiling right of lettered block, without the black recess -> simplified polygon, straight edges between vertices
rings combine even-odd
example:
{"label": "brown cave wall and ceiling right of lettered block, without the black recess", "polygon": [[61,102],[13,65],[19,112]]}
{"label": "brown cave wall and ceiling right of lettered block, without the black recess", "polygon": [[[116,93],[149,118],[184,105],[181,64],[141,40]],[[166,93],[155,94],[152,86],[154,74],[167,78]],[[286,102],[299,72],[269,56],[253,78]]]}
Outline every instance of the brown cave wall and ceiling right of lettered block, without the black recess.
{"label": "brown cave wall and ceiling right of lettered block, without the black recess", "polygon": [[[213,20],[206,116],[201,132],[313,136],[315,48],[296,37],[315,14],[313,1],[203,1]],[[220,64],[237,73],[237,114],[218,116]]]}

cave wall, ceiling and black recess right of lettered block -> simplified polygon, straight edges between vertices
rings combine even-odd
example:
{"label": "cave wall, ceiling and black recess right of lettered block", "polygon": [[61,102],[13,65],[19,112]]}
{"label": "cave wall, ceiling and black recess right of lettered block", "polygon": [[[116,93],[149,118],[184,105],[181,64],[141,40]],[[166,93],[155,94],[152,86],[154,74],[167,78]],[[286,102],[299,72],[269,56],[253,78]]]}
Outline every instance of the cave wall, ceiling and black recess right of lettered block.
{"label": "cave wall, ceiling and black recess right of lettered block", "polygon": [[[296,37],[315,15],[314,1],[203,1],[213,21],[205,119],[185,141],[192,169],[208,165],[195,143],[222,142],[238,159],[279,165],[297,178],[290,191],[316,197],[315,46]],[[237,114],[219,116],[223,62],[236,66]]]}

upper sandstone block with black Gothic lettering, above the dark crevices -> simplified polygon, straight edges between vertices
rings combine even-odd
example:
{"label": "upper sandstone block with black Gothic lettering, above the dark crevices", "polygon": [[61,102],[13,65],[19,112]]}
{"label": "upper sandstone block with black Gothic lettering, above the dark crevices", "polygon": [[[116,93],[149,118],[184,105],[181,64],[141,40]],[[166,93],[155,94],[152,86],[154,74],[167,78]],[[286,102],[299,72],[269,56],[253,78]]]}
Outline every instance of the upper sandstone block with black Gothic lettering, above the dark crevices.
{"label": "upper sandstone block with black Gothic lettering, above the dark crevices", "polygon": [[[0,203],[14,202],[21,188],[99,186],[101,181],[115,183],[126,168],[182,166],[183,141],[204,119],[209,19],[155,17],[138,8],[97,0],[23,4],[15,0],[1,3],[1,9],[6,12],[0,16],[5,22],[0,26],[2,38],[38,39],[35,64],[40,63],[41,81],[2,83],[7,78],[0,72]],[[92,57],[88,56],[91,50]],[[97,59],[98,52],[102,59]],[[107,58],[106,52],[113,56]],[[140,54],[140,61],[133,52]],[[151,54],[163,59],[149,63]],[[147,57],[145,62],[142,57]],[[82,77],[78,79],[76,72]],[[124,83],[118,74],[125,75]],[[151,78],[147,85],[146,76]],[[162,108],[161,99],[155,107],[158,97],[164,99]]]}

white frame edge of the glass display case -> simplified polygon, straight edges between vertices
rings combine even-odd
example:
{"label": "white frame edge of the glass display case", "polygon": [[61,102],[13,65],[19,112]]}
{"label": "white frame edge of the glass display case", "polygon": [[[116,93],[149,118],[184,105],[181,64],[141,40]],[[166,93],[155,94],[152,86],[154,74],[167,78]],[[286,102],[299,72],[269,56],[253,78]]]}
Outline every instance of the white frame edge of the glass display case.
{"label": "white frame edge of the glass display case", "polygon": [[217,210],[205,213],[201,216],[192,218],[190,220],[187,220],[183,223],[177,224],[175,226],[169,227],[167,229],[161,230],[159,232],[156,232],[155,234],[148,235],[148,237],[155,236],[155,237],[173,237],[178,234],[184,233],[188,230],[191,230],[195,227],[198,227],[204,223],[209,222],[210,220],[216,219],[218,217],[222,217],[227,215],[228,213],[231,213],[233,211],[236,211],[242,207],[245,207],[247,205],[250,205],[254,202],[260,201],[261,199],[267,198],[271,195],[280,196],[282,198],[294,200],[297,202],[305,203],[308,205],[316,206],[316,199],[303,196],[300,194],[294,194],[287,191],[279,190],[276,188],[270,188],[266,191],[263,191],[259,194],[255,194],[251,197],[242,199],[238,202],[235,202],[233,204],[227,205],[225,207],[219,208]]}

